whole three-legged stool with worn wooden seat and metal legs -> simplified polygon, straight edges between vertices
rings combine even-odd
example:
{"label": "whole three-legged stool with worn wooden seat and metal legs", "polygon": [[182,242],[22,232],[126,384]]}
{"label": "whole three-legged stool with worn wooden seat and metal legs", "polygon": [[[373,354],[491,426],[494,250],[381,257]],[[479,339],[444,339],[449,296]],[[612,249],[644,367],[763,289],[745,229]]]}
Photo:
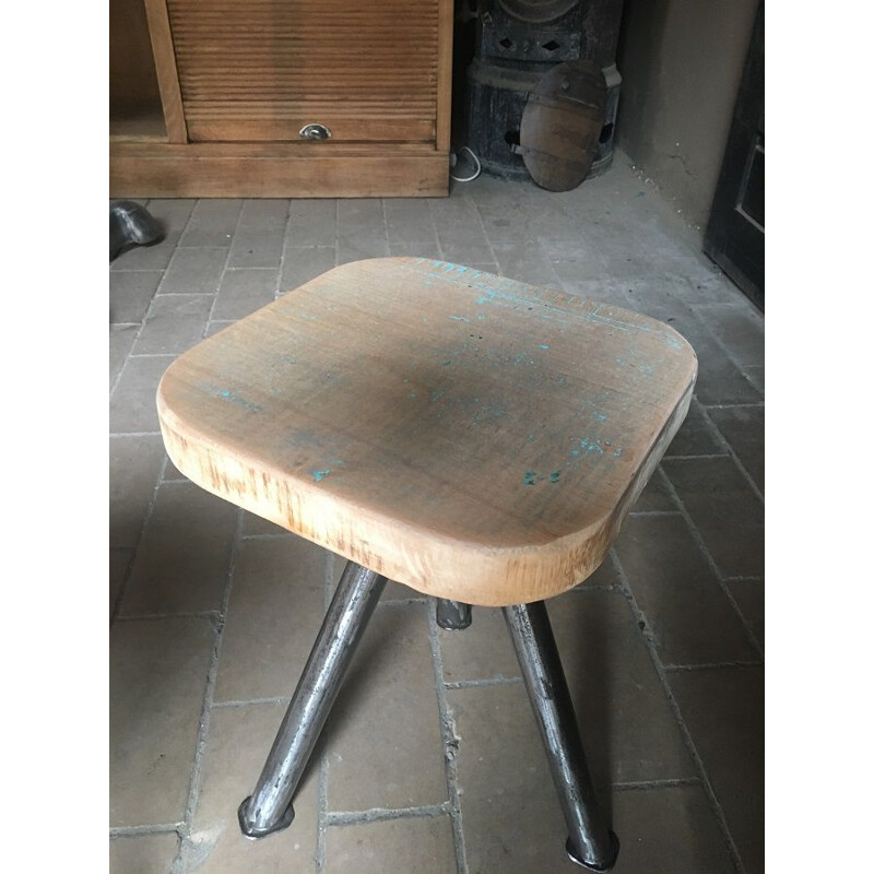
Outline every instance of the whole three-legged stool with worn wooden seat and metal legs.
{"label": "whole three-legged stool with worn wooden seat and metal legs", "polygon": [[604,558],[688,410],[689,344],[646,316],[424,258],[345,264],[180,356],[157,392],[176,466],[349,559],[253,793],[292,798],[387,579],[504,609],[567,819],[613,866],[544,599]]}

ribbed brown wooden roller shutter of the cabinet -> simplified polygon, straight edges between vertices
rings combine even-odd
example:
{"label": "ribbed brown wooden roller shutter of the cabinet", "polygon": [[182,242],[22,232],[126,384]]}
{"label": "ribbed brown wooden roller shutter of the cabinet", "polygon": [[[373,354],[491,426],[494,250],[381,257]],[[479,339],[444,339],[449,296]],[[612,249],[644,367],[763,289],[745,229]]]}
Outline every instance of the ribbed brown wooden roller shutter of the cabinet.
{"label": "ribbed brown wooden roller shutter of the cabinet", "polygon": [[167,0],[191,141],[434,142],[434,0]]}

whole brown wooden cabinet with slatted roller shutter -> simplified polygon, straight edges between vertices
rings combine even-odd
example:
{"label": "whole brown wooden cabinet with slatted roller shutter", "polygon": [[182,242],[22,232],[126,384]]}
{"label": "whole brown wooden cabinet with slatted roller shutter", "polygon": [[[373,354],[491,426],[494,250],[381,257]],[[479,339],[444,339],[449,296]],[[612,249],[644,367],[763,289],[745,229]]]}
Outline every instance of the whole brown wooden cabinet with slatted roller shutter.
{"label": "whole brown wooden cabinet with slatted roller shutter", "polygon": [[451,38],[451,0],[110,0],[110,196],[444,196]]}

